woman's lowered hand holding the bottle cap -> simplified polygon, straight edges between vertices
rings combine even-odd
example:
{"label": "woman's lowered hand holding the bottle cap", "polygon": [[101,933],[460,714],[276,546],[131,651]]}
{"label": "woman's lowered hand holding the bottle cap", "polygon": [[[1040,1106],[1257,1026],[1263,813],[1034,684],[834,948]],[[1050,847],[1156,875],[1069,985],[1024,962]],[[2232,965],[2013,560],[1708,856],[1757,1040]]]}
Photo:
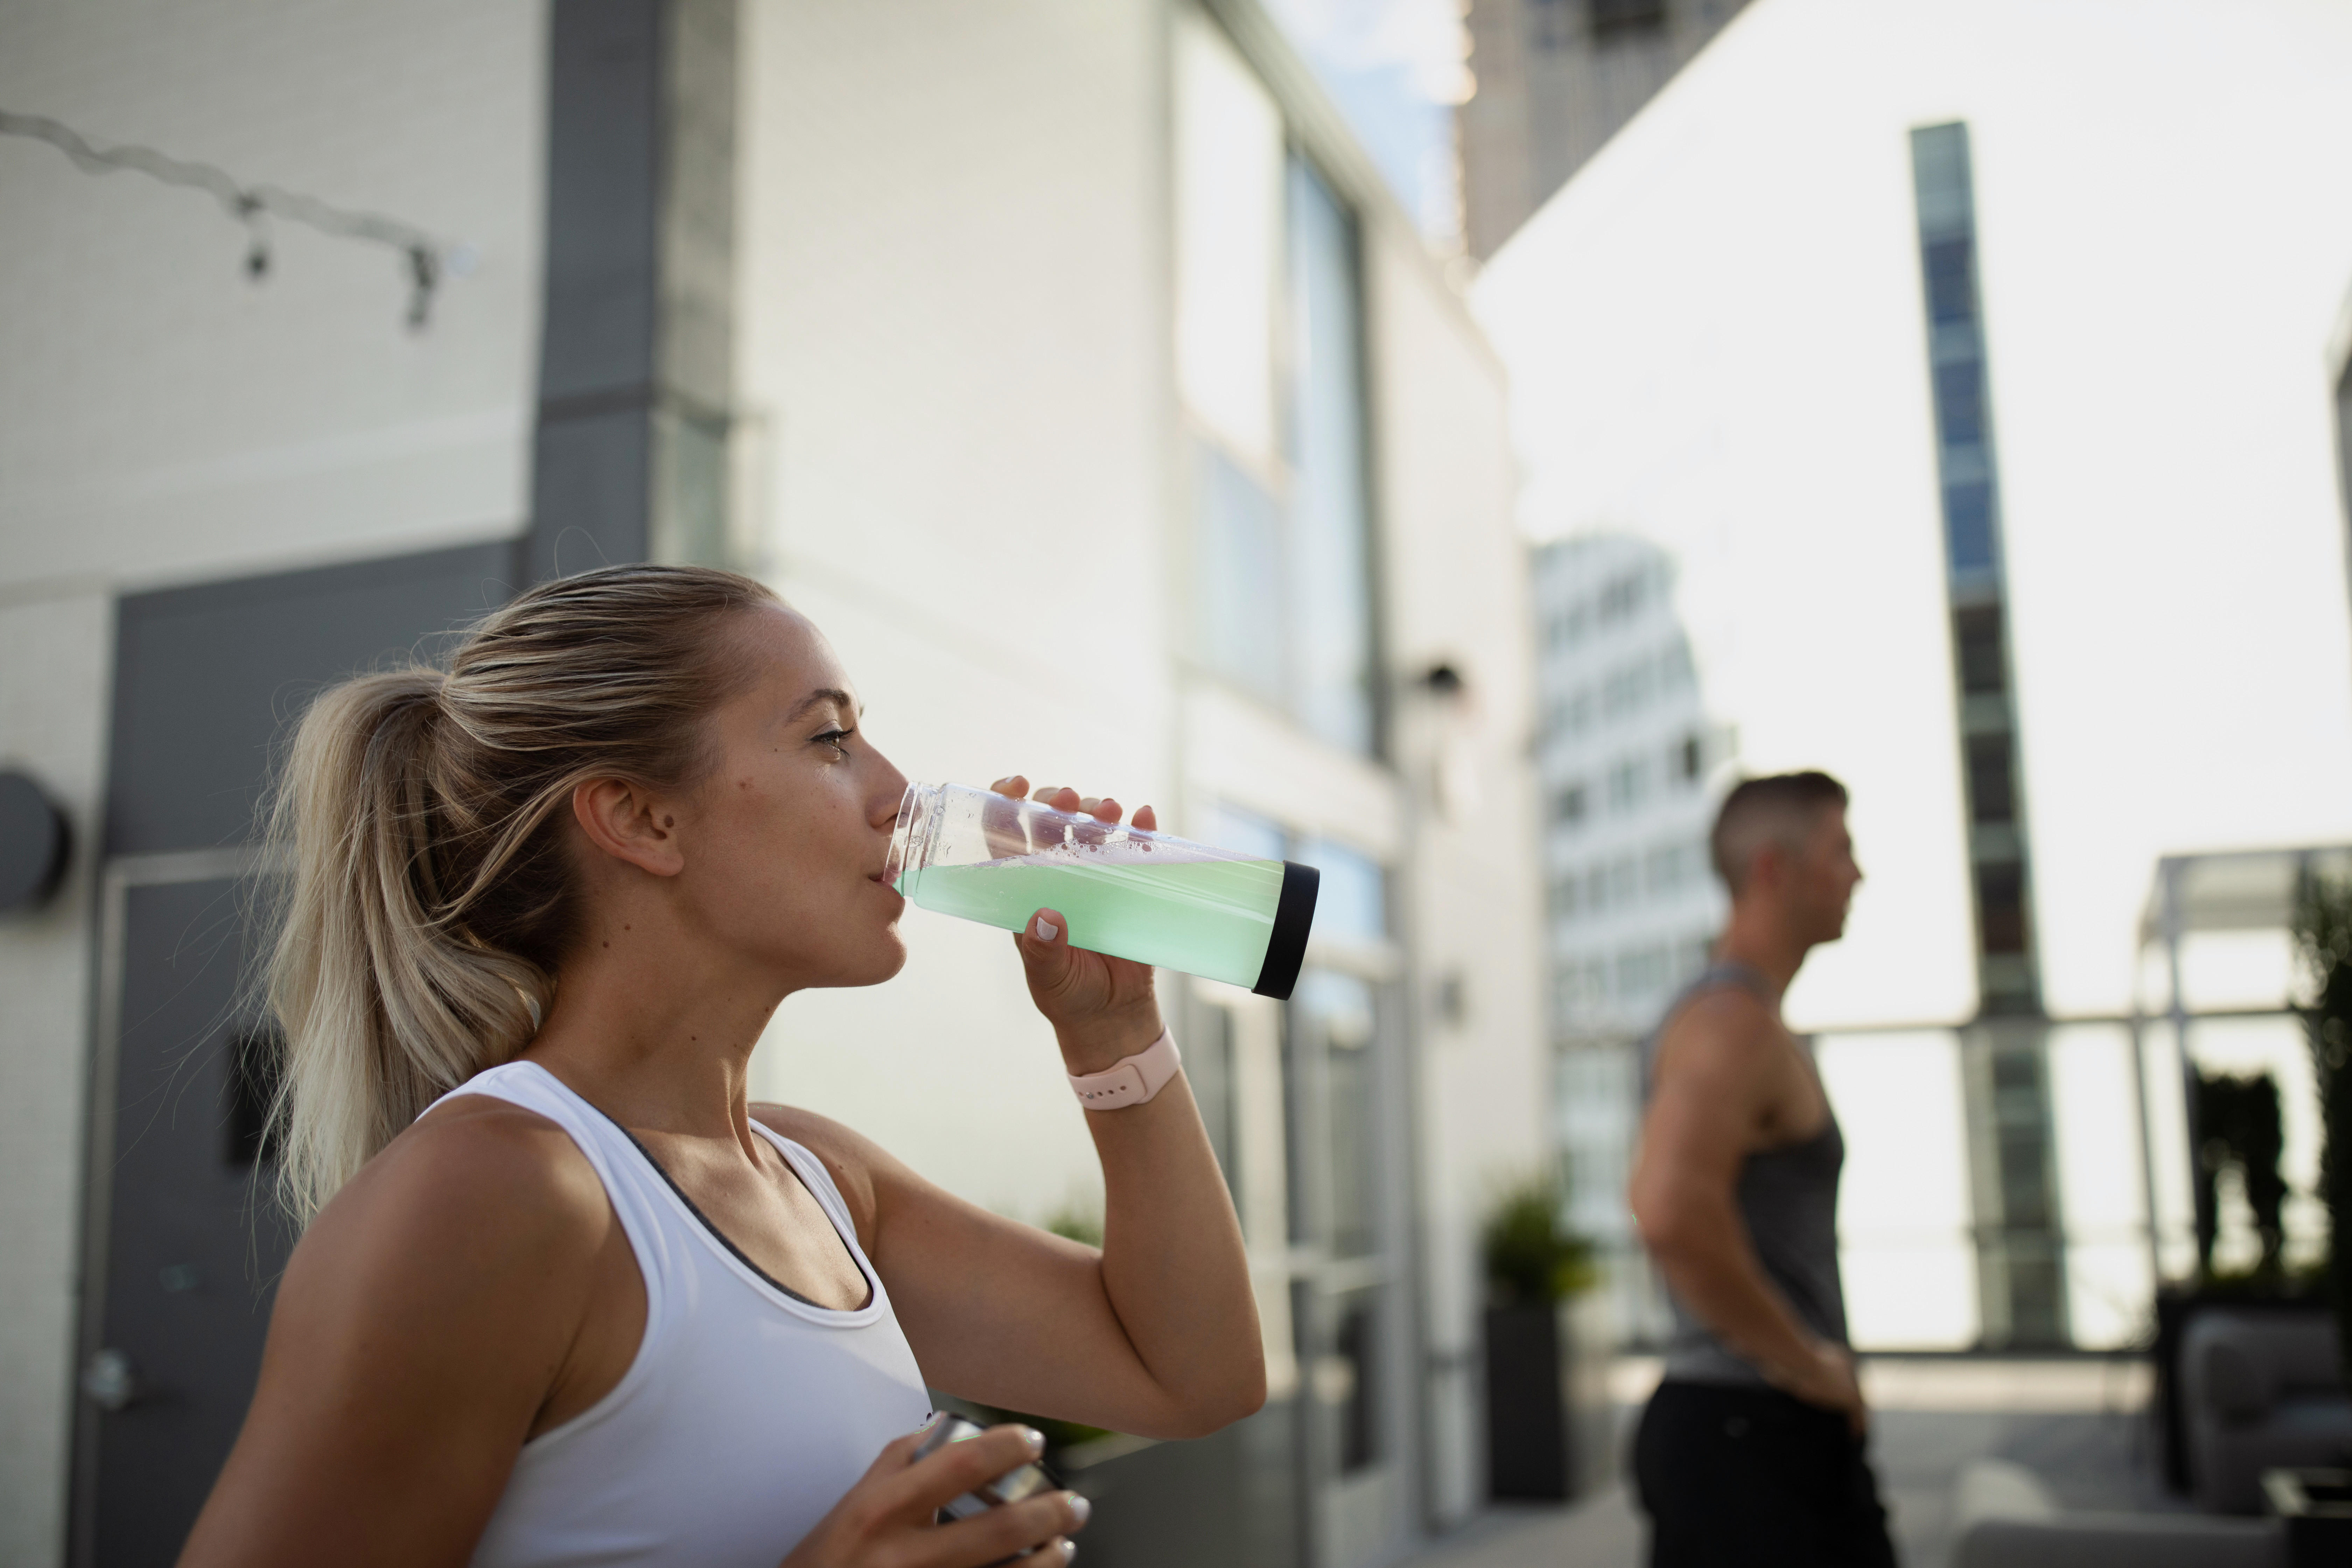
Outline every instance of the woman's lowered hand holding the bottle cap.
{"label": "woman's lowered hand holding the bottle cap", "polygon": [[1077,1552],[1065,1535],[1087,1523],[1091,1505],[1077,1493],[1042,1493],[993,1507],[955,1523],[934,1523],[938,1509],[974,1486],[995,1481],[1044,1453],[1028,1427],[990,1427],[915,1460],[922,1432],[908,1432],[873,1462],[783,1568],[981,1568],[1033,1563],[1061,1568]]}

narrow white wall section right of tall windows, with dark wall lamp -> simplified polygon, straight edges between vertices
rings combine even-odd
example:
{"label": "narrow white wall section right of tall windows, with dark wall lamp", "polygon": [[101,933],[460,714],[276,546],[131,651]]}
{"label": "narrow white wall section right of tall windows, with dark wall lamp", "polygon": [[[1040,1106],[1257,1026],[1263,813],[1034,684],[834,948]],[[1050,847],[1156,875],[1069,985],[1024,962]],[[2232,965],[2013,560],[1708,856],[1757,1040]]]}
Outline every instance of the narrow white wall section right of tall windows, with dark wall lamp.
{"label": "narrow white wall section right of tall windows, with dark wall lamp", "polygon": [[[1406,247],[1411,244],[1411,252]],[[1418,802],[1406,851],[1406,933],[1421,1034],[1425,1497],[1439,1523],[1484,1502],[1477,1385],[1484,1267],[1477,1232],[1496,1190],[1550,1157],[1543,1032],[1541,837],[1526,764],[1534,654],[1526,557],[1510,527],[1505,381],[1418,240],[1374,230],[1374,496],[1397,672],[1397,755]],[[1456,705],[1411,679],[1451,663]],[[1458,983],[1461,1016],[1437,1009]]]}

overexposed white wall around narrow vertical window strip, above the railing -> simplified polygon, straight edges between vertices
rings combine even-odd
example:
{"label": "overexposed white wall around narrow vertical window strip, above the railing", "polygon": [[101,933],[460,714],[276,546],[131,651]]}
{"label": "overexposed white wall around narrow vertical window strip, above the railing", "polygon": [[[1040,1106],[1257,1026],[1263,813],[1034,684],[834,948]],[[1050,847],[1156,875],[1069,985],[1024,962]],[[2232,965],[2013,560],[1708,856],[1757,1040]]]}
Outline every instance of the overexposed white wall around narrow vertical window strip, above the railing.
{"label": "overexposed white wall around narrow vertical window strip, above the railing", "polygon": [[2129,1006],[2161,853],[2352,839],[2343,0],[1766,0],[1486,266],[1538,536],[1682,562],[1752,771],[1856,788],[1818,1027],[1973,1006],[1910,141],[1966,120],[2034,914]]}

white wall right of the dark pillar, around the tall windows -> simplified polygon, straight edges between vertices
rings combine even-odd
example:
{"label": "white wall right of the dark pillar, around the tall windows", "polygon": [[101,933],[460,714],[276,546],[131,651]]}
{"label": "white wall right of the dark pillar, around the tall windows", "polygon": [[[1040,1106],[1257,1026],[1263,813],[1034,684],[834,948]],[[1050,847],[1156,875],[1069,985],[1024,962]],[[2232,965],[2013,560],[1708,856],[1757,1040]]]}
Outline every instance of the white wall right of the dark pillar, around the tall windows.
{"label": "white wall right of the dark pillar, around the tall windows", "polygon": [[[1263,19],[1232,9],[1263,47]],[[1176,26],[1160,2],[985,19],[750,7],[743,531],[833,635],[868,731],[910,776],[1018,769],[1155,802],[1200,835],[1232,804],[1399,872],[1406,994],[1425,1004],[1456,978],[1468,1001],[1461,1025],[1428,1006],[1406,1023],[1428,1335],[1454,1371],[1428,1403],[1418,1366],[1395,1385],[1414,1422],[1437,1422],[1428,1455],[1451,1519],[1482,1486],[1475,1225],[1494,1178],[1548,1147],[1503,378],[1418,235],[1367,195],[1362,155],[1322,143],[1303,73],[1277,73],[1284,110],[1312,125],[1294,134],[1362,216],[1383,665],[1409,764],[1399,778],[1322,745],[1200,670],[1174,360]],[[1406,689],[1437,661],[1470,675],[1465,710]],[[1004,938],[922,910],[906,931],[913,959],[891,985],[781,1011],[757,1091],[837,1114],[993,1208],[1089,1201],[1094,1152]],[[1251,1239],[1287,1312],[1279,1201],[1265,1218]]]}

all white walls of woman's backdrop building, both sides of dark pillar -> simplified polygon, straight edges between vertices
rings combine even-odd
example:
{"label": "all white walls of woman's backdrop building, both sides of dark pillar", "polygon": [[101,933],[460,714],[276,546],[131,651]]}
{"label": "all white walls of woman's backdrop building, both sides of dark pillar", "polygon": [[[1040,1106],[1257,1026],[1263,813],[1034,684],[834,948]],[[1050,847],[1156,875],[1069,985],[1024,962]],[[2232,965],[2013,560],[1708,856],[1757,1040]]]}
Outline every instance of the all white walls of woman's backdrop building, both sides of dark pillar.
{"label": "all white walls of woman's backdrop building, both sides of dark pillar", "polygon": [[[1388,663],[1454,661],[1477,703],[1402,738],[1456,759],[1456,818],[1437,823],[1435,773],[1322,748],[1185,656],[1169,26],[1157,0],[985,19],[746,5],[741,543],[828,628],[875,741],[917,778],[1021,769],[1157,802],[1192,832],[1218,799],[1251,804],[1399,870],[1416,978],[1458,978],[1468,999],[1458,1027],[1411,1025],[1430,1288],[1468,1366],[1475,1211],[1496,1168],[1543,1147],[1501,374],[1383,205],[1364,287]],[[12,12],[12,110],[477,252],[412,336],[388,252],[280,223],[273,273],[249,284],[245,233],[207,197],[0,139],[0,764],[68,804],[85,851],[118,592],[522,529],[543,33],[529,5]],[[89,870],[0,926],[0,1561],[49,1561],[61,1537]],[[908,926],[898,983],[783,1009],[760,1091],[997,1208],[1084,1201],[1084,1124],[1004,938],[924,912]],[[1477,1481],[1468,1382],[1439,1403],[1458,1512]]]}

